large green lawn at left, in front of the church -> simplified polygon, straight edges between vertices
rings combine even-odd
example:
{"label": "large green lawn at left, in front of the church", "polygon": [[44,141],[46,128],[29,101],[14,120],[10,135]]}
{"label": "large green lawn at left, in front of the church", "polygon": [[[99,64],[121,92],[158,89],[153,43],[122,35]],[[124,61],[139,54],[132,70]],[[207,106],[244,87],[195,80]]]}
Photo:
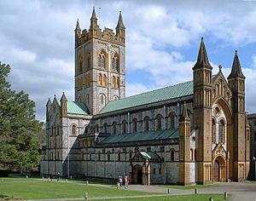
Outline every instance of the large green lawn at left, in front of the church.
{"label": "large green lawn at left, in front of the church", "polygon": [[[145,195],[147,192],[134,192],[125,189],[115,189],[108,187],[93,187],[84,184],[76,184],[71,182],[55,182],[55,181],[21,181],[0,182],[0,198],[8,196],[13,198],[82,198],[84,192],[89,193],[89,197],[106,197],[106,196],[131,196]],[[13,180],[14,181],[14,180]],[[16,180],[17,181],[17,180]]]}

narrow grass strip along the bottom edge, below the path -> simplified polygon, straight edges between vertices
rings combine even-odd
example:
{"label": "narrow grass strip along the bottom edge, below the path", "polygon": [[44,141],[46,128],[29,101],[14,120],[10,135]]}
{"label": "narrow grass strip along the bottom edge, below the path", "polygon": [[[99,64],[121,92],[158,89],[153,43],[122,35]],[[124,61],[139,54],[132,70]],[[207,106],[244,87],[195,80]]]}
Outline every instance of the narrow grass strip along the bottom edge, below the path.
{"label": "narrow grass strip along the bottom edge, below the path", "polygon": [[230,199],[224,199],[223,194],[191,194],[191,195],[171,195],[171,196],[160,196],[160,197],[150,197],[150,198],[112,198],[112,199],[97,199],[99,201],[125,201],[125,200],[138,200],[138,201],[207,201],[209,198],[213,198],[214,201],[227,201]]}

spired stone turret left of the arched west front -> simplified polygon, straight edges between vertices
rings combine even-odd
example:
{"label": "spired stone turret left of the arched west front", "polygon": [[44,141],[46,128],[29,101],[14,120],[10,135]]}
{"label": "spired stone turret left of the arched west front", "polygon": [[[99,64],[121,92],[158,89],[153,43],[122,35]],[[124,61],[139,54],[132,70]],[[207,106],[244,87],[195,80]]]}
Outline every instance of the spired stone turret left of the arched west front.
{"label": "spired stone turret left of the arched west front", "polygon": [[197,61],[193,67],[194,125],[197,130],[197,183],[207,183],[207,167],[212,167],[212,66],[207,57],[203,38]]}

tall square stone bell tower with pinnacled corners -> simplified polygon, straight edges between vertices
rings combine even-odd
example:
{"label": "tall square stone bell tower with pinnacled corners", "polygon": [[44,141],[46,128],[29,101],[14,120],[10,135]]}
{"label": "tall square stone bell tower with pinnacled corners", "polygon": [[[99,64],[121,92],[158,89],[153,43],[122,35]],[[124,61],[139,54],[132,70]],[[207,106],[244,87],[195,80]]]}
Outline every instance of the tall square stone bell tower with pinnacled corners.
{"label": "tall square stone bell tower with pinnacled corners", "polygon": [[112,100],[125,97],[125,26],[121,12],[116,26],[100,29],[93,8],[90,29],[75,29],[75,101],[97,114]]}

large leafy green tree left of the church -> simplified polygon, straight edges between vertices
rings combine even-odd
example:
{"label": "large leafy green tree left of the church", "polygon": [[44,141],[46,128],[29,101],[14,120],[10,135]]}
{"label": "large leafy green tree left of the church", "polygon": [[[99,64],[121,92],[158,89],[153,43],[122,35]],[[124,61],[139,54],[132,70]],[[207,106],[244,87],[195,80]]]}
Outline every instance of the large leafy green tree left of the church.
{"label": "large leafy green tree left of the church", "polygon": [[11,170],[38,169],[42,123],[36,120],[35,103],[11,89],[9,65],[0,62],[0,164]]}

